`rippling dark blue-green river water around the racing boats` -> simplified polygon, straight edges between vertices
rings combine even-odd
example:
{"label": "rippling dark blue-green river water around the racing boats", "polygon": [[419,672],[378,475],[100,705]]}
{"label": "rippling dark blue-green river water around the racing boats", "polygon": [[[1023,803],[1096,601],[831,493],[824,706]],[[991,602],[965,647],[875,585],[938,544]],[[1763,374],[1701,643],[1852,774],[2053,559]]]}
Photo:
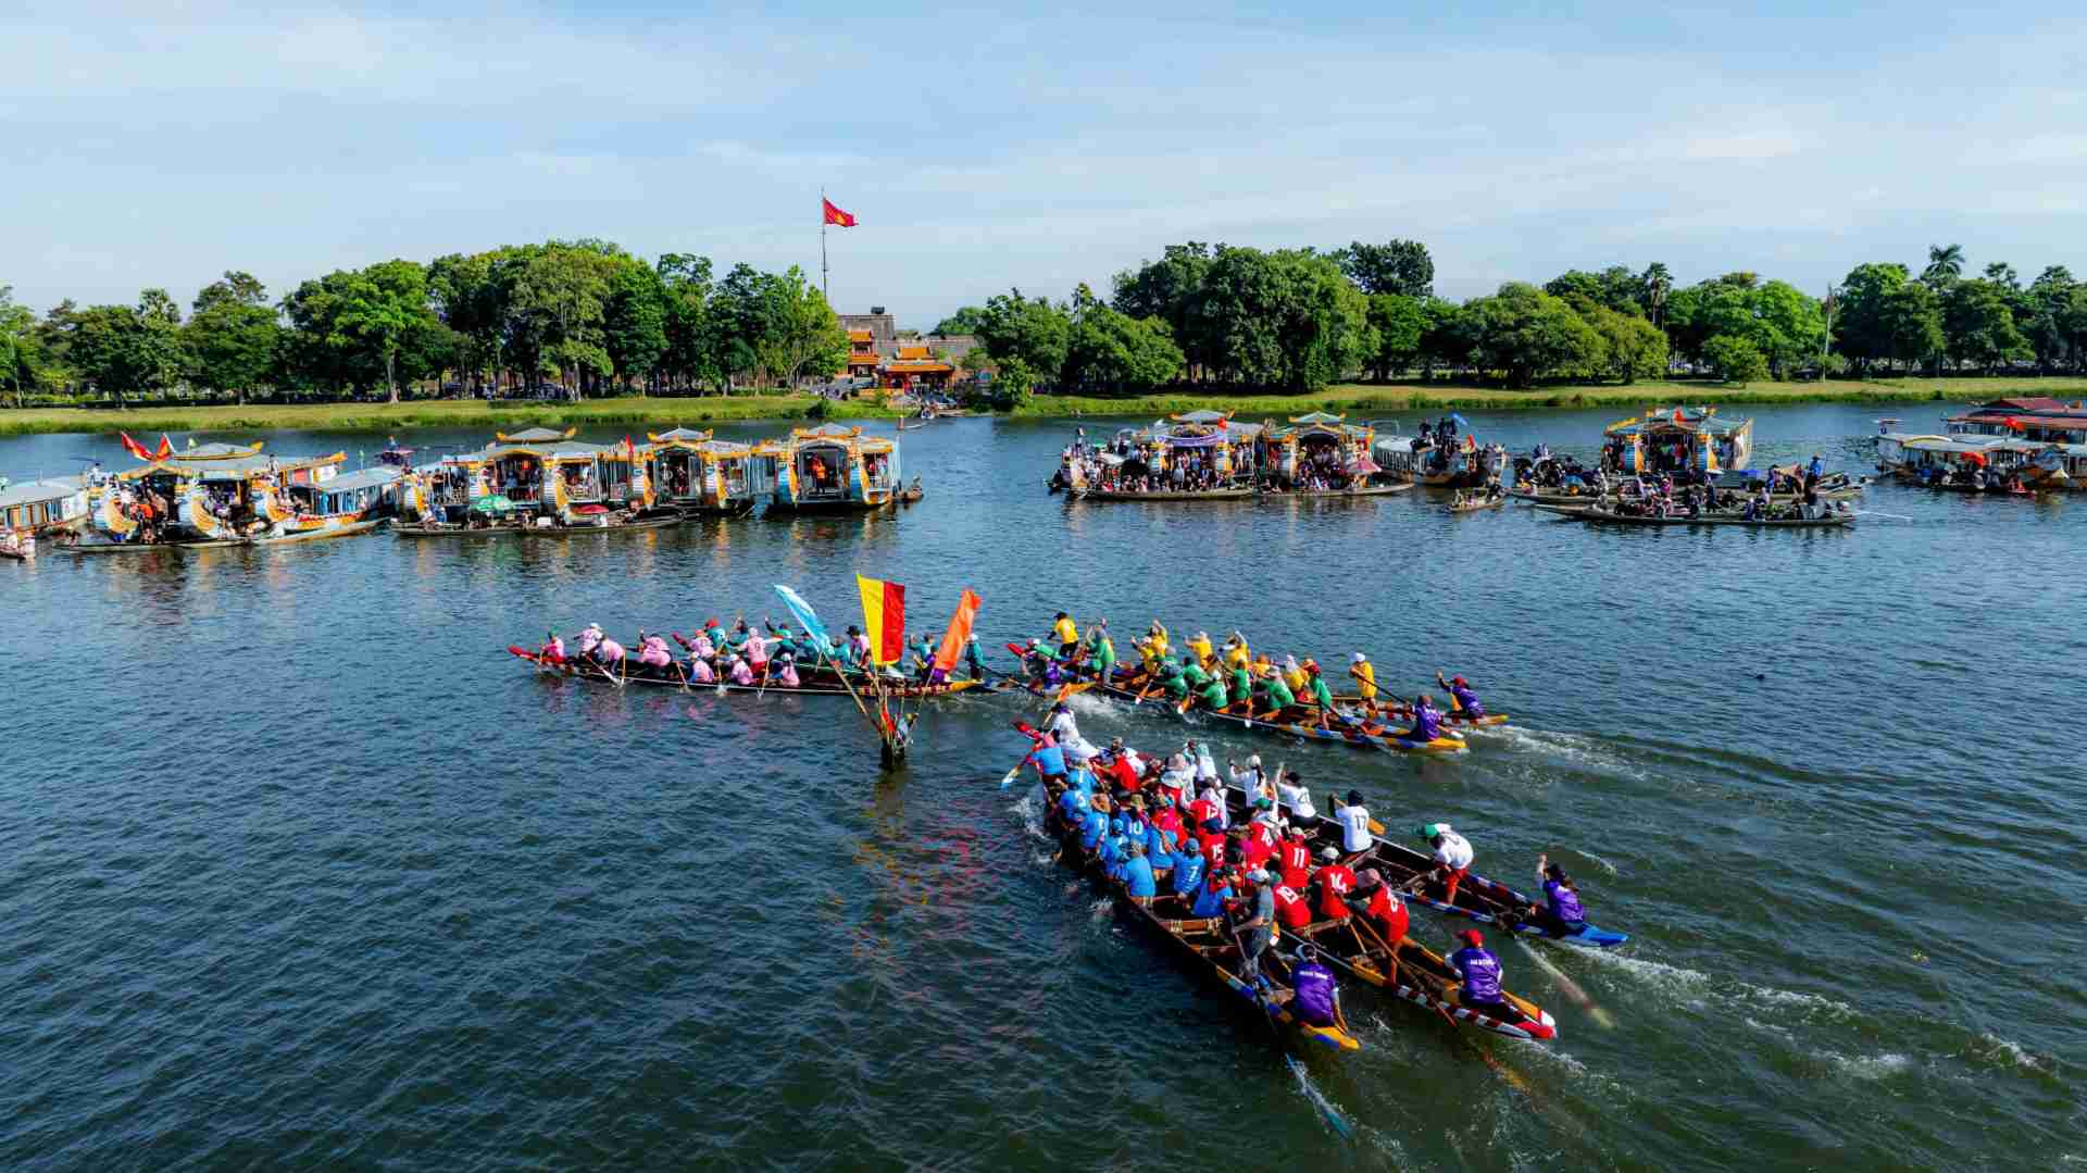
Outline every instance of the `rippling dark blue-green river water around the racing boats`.
{"label": "rippling dark blue-green river water around the racing boats", "polygon": [[[1471,413],[1515,449],[1590,453],[1605,422]],[[1866,472],[1874,424],[1776,407],[1755,432]],[[1066,505],[1064,438],[908,432],[929,495],[889,518],[0,566],[0,1165],[2087,1160],[2087,499],[1876,486],[1910,520],[1853,532],[1584,530],[1425,490]],[[113,438],[0,440],[17,478],[81,455],[121,463]],[[1634,937],[1544,948],[1611,1025],[1494,941],[1557,1044],[1467,1042],[1363,987],[1367,1050],[1300,1081],[995,787],[1027,697],[933,708],[879,776],[845,701],[618,693],[501,651],[781,616],[774,582],[845,624],[854,572],[922,626],[975,586],[987,647],[1062,607],[1121,643],[1158,616],[1367,649],[1407,691],[1463,672],[1515,716],[1463,758],[1225,735],[1219,758],[1359,787],[1394,829],[1453,820],[1478,870],[1563,860]],[[1092,739],[1204,733],[1077,703]]]}

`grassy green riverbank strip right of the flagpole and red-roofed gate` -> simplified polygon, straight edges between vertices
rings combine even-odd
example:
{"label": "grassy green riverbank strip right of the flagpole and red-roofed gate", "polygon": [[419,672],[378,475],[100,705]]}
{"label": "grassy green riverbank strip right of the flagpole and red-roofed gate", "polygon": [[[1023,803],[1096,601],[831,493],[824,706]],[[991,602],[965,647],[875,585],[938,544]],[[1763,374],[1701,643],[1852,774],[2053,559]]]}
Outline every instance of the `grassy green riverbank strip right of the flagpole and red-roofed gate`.
{"label": "grassy green riverbank strip right of the flagpole and red-roofed gate", "polygon": [[1035,397],[1021,415],[1167,415],[1213,407],[1236,411],[1240,420],[1332,413],[1396,413],[1396,411],[1517,411],[1534,407],[1617,407],[1636,411],[1647,405],[1697,403],[1924,403],[1981,401],[2016,394],[2087,397],[2087,378],[1908,378],[1908,380],[1824,380],[1824,382],[1755,382],[1726,386],[1716,382],[1636,382],[1588,386],[1538,386],[1532,390],[1501,390],[1455,384],[1338,384],[1319,394],[1146,394],[1135,399]]}

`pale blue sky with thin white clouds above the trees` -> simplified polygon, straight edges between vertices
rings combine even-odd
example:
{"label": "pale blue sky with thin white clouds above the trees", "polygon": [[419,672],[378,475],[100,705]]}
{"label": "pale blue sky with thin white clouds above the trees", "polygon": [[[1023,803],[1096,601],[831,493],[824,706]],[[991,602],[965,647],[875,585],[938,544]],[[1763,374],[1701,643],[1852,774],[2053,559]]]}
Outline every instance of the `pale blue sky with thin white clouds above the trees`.
{"label": "pale blue sky with thin white clouds above the trees", "polygon": [[0,15],[0,284],[184,303],[221,269],[549,236],[818,267],[902,324],[1106,290],[1177,240],[1428,242],[1438,288],[1665,261],[1820,292],[1964,244],[2087,276],[2087,19],[1507,4]]}

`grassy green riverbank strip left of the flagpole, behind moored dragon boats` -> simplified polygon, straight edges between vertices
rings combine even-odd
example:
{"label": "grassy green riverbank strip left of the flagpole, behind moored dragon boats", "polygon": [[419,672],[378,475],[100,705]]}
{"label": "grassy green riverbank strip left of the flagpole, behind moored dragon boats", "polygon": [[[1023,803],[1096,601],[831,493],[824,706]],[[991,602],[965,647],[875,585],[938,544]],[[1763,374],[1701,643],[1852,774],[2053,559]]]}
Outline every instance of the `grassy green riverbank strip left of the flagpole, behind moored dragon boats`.
{"label": "grassy green riverbank strip left of the flagpole, behind moored dragon boats", "polygon": [[[0,411],[0,434],[29,432],[265,432],[346,430],[388,432],[405,428],[611,428],[676,424],[718,424],[733,420],[812,420],[826,401],[812,394],[735,394],[701,399],[595,399],[582,403],[484,403],[442,399],[417,403],[301,403],[290,407],[134,407],[129,411],[88,411],[79,407],[29,407]],[[895,411],[868,401],[826,403],[835,420],[879,420]]]}

